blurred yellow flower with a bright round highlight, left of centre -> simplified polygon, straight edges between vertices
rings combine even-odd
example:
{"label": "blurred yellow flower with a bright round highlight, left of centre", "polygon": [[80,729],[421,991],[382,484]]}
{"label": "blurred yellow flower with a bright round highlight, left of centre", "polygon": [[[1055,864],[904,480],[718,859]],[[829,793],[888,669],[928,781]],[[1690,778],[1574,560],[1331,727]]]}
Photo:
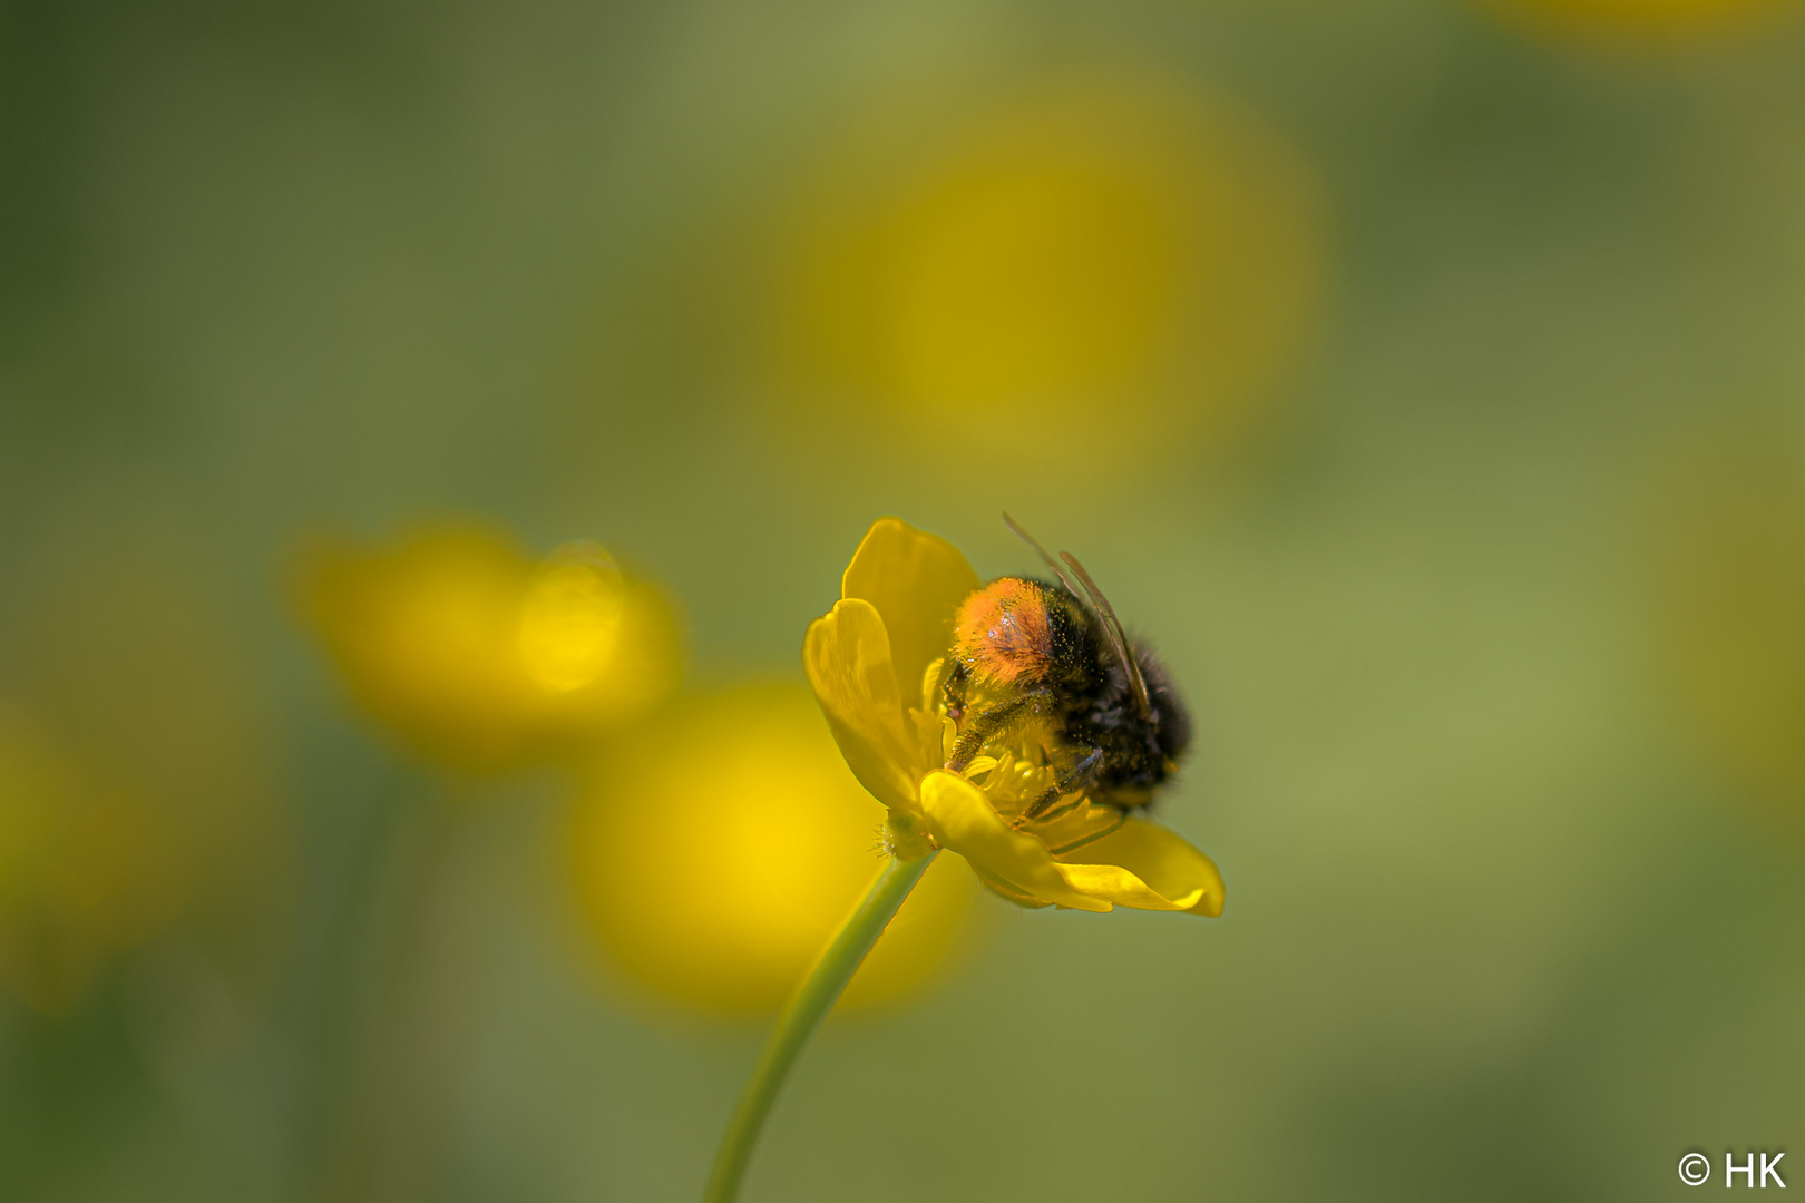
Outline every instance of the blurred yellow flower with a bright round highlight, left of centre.
{"label": "blurred yellow flower with a bright round highlight, left of centre", "polygon": [[312,548],[303,601],[357,702],[417,752],[496,770],[616,727],[680,678],[671,601],[594,543],[529,559],[482,525]]}

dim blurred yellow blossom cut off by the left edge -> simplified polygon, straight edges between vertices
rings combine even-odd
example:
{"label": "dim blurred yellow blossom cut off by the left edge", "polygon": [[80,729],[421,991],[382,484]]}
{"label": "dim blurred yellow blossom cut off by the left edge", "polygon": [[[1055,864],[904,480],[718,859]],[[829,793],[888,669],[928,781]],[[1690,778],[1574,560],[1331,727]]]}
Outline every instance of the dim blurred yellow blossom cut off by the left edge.
{"label": "dim blurred yellow blossom cut off by the left edge", "polygon": [[220,952],[258,940],[245,904],[280,860],[220,617],[128,556],[29,610],[0,691],[0,985],[61,1012],[177,920]]}

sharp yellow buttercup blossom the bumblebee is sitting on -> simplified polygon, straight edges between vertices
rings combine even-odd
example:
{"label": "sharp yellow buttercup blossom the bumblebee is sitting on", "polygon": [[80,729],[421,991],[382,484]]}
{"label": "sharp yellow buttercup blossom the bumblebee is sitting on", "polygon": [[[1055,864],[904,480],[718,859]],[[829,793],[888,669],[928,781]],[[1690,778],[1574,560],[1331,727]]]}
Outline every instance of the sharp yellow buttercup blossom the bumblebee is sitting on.
{"label": "sharp yellow buttercup blossom the bumblebee is sitting on", "polygon": [[803,667],[859,783],[904,839],[926,830],[1011,902],[1220,914],[1217,866],[1157,822],[1088,799],[1023,821],[1054,779],[1049,732],[1031,725],[964,774],[944,768],[957,730],[940,673],[953,610],[978,584],[953,545],[886,518],[852,556],[841,601],[809,626]]}

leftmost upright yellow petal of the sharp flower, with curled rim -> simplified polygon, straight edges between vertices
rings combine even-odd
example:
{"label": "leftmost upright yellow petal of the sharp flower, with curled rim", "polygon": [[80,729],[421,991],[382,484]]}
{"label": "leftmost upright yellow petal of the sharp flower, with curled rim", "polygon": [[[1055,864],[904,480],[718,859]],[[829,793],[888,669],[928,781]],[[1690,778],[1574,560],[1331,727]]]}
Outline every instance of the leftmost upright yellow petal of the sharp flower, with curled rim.
{"label": "leftmost upright yellow petal of the sharp flower, with curled rim", "polygon": [[859,599],[836,602],[809,624],[801,666],[852,776],[884,806],[917,810],[902,696],[877,610]]}

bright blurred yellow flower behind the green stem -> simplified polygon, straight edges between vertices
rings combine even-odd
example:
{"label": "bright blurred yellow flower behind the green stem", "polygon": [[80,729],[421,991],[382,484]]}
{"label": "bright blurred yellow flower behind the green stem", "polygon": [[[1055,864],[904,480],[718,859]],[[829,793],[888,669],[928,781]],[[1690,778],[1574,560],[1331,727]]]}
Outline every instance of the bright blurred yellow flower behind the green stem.
{"label": "bright blurred yellow flower behind the green stem", "polygon": [[[713,1012],[769,1012],[879,869],[884,812],[800,685],[679,703],[617,747],[578,803],[572,868],[608,961]],[[854,978],[892,1001],[944,969],[973,889],[935,866]]]}

